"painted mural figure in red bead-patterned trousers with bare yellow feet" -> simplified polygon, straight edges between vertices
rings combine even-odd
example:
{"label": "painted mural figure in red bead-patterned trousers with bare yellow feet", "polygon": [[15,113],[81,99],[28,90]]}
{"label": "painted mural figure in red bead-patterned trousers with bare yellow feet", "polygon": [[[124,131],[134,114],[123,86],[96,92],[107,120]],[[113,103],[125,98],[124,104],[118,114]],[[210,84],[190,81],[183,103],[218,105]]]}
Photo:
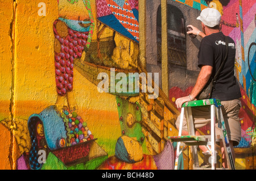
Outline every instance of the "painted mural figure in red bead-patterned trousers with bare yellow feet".
{"label": "painted mural figure in red bead-patterned trousers with bare yellow feet", "polygon": [[53,23],[55,35],[55,78],[57,108],[65,98],[69,110],[76,109],[73,97],[73,61],[81,58],[89,48],[94,30],[94,19],[89,0],[58,0],[59,19]]}

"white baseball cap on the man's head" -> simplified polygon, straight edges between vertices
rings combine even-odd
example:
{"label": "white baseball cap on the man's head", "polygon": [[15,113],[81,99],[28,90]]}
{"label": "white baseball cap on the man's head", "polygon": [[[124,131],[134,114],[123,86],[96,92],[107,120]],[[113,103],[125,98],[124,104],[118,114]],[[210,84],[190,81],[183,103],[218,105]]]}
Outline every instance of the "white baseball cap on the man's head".
{"label": "white baseball cap on the man's head", "polygon": [[220,24],[221,14],[218,10],[208,7],[201,11],[196,19],[201,20],[208,27],[214,27]]}

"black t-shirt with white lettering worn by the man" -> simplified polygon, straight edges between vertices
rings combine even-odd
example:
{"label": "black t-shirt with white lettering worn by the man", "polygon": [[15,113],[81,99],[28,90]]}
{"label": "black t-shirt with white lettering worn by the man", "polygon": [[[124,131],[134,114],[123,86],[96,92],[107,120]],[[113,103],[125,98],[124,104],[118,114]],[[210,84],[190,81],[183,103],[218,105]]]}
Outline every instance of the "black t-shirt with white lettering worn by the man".
{"label": "black t-shirt with white lettering worn by the man", "polygon": [[[241,98],[240,86],[237,78],[234,76],[234,61],[236,48],[234,40],[228,37],[229,52],[228,58],[220,71],[216,80],[215,89],[212,92],[212,98],[224,100],[233,100]],[[198,66],[210,65],[213,67],[212,77],[220,68],[221,62],[226,54],[225,36],[222,32],[212,33],[205,36],[200,44],[198,54]]]}

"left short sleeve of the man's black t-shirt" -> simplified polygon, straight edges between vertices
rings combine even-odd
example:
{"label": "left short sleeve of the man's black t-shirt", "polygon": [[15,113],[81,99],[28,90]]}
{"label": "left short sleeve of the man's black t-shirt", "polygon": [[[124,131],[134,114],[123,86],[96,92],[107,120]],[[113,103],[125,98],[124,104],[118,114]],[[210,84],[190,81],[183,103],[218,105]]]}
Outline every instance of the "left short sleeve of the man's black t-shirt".
{"label": "left short sleeve of the man's black t-shirt", "polygon": [[214,65],[214,47],[210,45],[208,39],[203,39],[200,44],[198,53],[198,65],[199,68],[203,65]]}

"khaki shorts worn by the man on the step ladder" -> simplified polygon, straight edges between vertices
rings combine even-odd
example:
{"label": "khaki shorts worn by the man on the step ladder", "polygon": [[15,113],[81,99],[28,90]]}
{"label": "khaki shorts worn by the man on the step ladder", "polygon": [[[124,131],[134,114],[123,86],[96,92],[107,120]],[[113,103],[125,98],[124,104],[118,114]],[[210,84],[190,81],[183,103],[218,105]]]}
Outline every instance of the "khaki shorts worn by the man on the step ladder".
{"label": "khaki shorts worn by the man on the step ladder", "polygon": [[[237,146],[241,140],[241,124],[239,118],[239,110],[242,107],[240,99],[222,101],[222,114],[225,121],[226,131],[229,140],[233,141],[233,145]],[[195,129],[202,128],[210,123],[210,106],[192,107],[192,115],[194,119]],[[177,117],[176,127],[179,129],[180,115]],[[216,123],[217,125],[217,123]],[[183,119],[183,131],[187,131],[187,119]]]}

